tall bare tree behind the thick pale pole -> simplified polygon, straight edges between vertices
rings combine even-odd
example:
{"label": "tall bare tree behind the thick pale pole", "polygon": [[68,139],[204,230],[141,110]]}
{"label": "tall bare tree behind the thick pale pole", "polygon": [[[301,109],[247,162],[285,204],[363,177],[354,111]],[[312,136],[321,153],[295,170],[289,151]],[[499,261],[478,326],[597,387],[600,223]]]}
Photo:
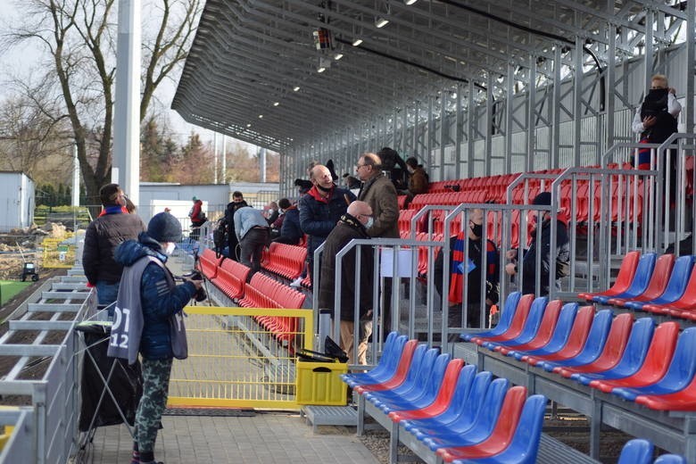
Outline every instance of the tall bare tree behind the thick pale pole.
{"label": "tall bare tree behind the thick pale pole", "polygon": [[[186,58],[202,0],[145,0],[140,120],[157,87]],[[45,80],[61,95],[54,120],[70,120],[87,197],[97,198],[111,177],[115,0],[20,0],[23,23],[6,46],[31,41],[46,52]]]}

